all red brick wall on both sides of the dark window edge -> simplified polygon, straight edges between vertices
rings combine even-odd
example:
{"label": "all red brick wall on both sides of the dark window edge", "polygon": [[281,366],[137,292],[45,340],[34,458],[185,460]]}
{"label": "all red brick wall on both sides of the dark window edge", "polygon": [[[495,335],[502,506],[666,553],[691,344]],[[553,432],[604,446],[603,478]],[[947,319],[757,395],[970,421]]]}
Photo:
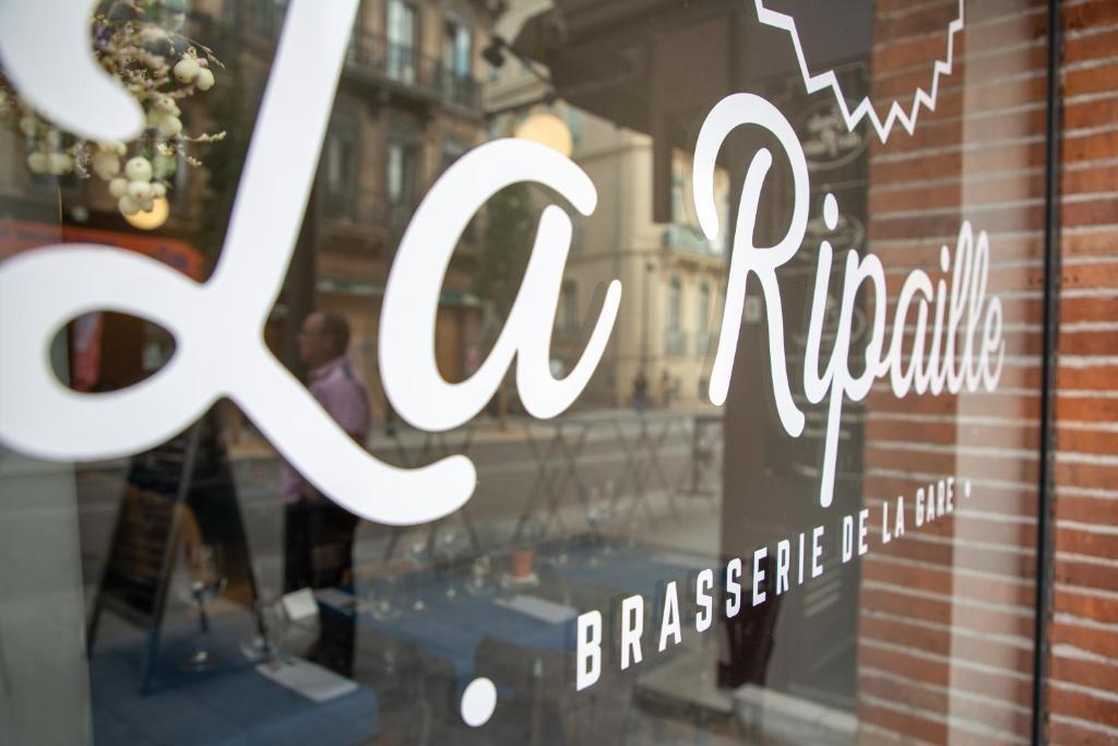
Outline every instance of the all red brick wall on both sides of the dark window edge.
{"label": "all red brick wall on both sides of the dark window edge", "polygon": [[[879,2],[874,93],[920,82],[954,3]],[[1029,735],[1041,349],[1046,8],[970,2],[956,70],[913,138],[877,147],[872,248],[935,267],[948,228],[991,232],[1012,356],[998,394],[868,408],[868,504],[974,478],[954,518],[864,560],[863,740],[1022,743]],[[938,13],[938,15],[937,15]],[[1048,737],[1118,743],[1118,3],[1064,2],[1061,295]],[[922,18],[920,25],[909,18]],[[966,88],[964,94],[960,87]],[[916,238],[913,238],[916,237]]]}

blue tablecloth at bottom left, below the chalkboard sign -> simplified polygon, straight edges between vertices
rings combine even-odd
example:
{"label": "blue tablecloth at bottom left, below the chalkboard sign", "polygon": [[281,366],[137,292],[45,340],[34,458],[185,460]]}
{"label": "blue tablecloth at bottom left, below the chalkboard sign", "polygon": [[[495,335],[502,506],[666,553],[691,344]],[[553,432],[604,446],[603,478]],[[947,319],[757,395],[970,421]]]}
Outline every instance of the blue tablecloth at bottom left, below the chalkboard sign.
{"label": "blue tablecloth at bottom left, below the chalkboard sign", "polygon": [[98,646],[89,662],[94,743],[97,746],[351,746],[377,733],[376,695],[358,688],[316,703],[255,670],[235,633],[216,630],[211,651],[222,664],[193,673],[177,663],[195,640],[180,634],[160,645],[160,665],[148,695],[140,693],[146,655],[143,634],[126,644]]}

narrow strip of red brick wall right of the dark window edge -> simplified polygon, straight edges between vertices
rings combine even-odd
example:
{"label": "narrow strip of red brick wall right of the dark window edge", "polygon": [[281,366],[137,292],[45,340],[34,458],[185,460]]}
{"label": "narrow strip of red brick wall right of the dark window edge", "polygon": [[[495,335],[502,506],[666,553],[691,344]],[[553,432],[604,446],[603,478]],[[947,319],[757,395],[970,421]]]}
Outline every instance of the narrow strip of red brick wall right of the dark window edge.
{"label": "narrow strip of red brick wall right of the dark window edge", "polygon": [[1053,744],[1118,743],[1118,3],[1064,2]]}

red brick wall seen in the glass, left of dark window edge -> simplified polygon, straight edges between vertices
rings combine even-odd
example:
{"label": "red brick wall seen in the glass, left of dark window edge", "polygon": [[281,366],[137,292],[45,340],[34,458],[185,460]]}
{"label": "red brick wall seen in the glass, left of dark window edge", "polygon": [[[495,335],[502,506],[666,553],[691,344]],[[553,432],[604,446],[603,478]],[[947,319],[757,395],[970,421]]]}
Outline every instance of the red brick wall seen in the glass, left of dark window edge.
{"label": "red brick wall seen in the glass, left of dark window edge", "polygon": [[[954,0],[879,0],[873,95],[911,102],[947,50]],[[869,248],[890,298],[915,267],[938,272],[969,219],[991,239],[991,292],[1005,310],[996,393],[909,396],[882,381],[865,423],[865,503],[904,495],[907,535],[863,557],[858,658],[862,743],[1027,743],[1043,263],[1046,4],[967,3],[956,67],[913,136],[875,143]],[[890,309],[890,318],[892,308]],[[911,334],[911,332],[910,332]],[[954,516],[915,527],[913,495],[969,479]]]}

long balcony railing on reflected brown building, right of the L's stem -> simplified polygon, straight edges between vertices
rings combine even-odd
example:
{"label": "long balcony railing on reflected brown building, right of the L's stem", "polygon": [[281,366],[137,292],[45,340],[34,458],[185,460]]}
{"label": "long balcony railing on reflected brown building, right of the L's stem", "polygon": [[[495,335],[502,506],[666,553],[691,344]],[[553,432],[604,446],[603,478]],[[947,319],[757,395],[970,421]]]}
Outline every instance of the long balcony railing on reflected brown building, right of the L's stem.
{"label": "long balcony railing on reflected brown building, right of the L's stem", "polygon": [[421,55],[415,47],[372,34],[354,34],[350,39],[348,62],[405,91],[465,108],[481,108],[481,84],[473,75]]}

